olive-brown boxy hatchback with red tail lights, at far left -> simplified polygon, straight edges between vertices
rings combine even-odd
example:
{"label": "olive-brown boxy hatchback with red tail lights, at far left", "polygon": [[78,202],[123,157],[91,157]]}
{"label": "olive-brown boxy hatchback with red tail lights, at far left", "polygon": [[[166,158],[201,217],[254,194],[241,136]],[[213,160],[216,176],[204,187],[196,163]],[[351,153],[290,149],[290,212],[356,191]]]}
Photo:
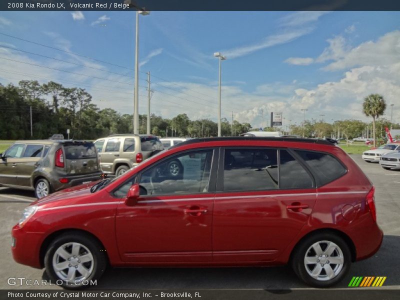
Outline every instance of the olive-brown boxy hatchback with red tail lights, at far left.
{"label": "olive-brown boxy hatchback with red tail lights, at far left", "polygon": [[0,153],[0,186],[34,190],[37,198],[100,174],[91,141],[18,140]]}

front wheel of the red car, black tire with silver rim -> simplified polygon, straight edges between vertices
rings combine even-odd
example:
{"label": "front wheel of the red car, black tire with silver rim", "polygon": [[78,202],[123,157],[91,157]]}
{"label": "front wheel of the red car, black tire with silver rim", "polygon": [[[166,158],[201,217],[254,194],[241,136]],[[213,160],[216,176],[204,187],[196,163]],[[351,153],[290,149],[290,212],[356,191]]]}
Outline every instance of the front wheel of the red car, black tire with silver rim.
{"label": "front wheel of the red car, black tire with silver rim", "polygon": [[[76,244],[79,245],[77,251],[72,251],[72,245]],[[61,257],[57,252],[59,249],[69,254],[68,257],[65,259]],[[73,252],[78,254],[73,256]],[[81,257],[85,257],[88,261],[81,262],[79,260]],[[65,264],[63,269],[54,269],[54,264],[63,267],[62,263]],[[107,257],[101,244],[93,237],[81,233],[65,233],[55,238],[47,248],[44,266],[51,283],[64,288],[84,288],[89,286],[88,282],[91,280],[101,277],[107,266]],[[72,277],[71,280],[68,279],[69,271],[74,272],[74,279]]]}

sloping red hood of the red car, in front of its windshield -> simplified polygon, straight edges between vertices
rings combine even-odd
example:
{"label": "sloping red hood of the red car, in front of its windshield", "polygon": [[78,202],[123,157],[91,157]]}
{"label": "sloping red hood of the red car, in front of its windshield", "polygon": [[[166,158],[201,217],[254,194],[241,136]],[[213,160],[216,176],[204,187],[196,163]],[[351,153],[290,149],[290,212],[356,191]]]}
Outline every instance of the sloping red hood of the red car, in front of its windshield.
{"label": "sloping red hood of the red car, in front of its windshield", "polygon": [[[41,199],[37,199],[32,203],[32,205],[45,205],[51,202],[67,200],[70,199],[71,202],[76,203],[76,201],[80,201],[77,199],[84,199],[85,196],[91,195],[90,187],[97,183],[98,181],[92,181],[86,184],[81,184],[69,188],[62,189],[60,191],[54,192],[45,196]],[[72,204],[72,203],[71,203]]]}

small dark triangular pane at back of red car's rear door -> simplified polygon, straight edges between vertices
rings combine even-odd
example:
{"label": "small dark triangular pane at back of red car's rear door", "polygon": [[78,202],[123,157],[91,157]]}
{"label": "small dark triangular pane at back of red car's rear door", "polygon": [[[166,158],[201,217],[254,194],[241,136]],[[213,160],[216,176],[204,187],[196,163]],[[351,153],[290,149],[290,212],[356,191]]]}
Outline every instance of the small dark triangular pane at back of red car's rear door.
{"label": "small dark triangular pane at back of red car's rear door", "polygon": [[279,150],[279,188],[313,187],[313,181],[304,167],[286,150]]}

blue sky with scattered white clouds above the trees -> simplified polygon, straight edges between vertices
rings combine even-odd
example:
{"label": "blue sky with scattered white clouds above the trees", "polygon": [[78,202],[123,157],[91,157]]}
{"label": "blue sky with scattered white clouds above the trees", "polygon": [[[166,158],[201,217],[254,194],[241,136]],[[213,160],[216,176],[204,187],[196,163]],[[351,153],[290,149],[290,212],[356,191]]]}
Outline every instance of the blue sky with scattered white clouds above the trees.
{"label": "blue sky with scattered white clouds above the trees", "polygon": [[[52,80],[133,113],[134,41],[133,11],[2,11],[0,82]],[[152,113],[216,121],[219,51],[229,121],[369,121],[362,100],[379,93],[400,122],[399,11],[151,11],[138,46],[140,114],[149,71]]]}

